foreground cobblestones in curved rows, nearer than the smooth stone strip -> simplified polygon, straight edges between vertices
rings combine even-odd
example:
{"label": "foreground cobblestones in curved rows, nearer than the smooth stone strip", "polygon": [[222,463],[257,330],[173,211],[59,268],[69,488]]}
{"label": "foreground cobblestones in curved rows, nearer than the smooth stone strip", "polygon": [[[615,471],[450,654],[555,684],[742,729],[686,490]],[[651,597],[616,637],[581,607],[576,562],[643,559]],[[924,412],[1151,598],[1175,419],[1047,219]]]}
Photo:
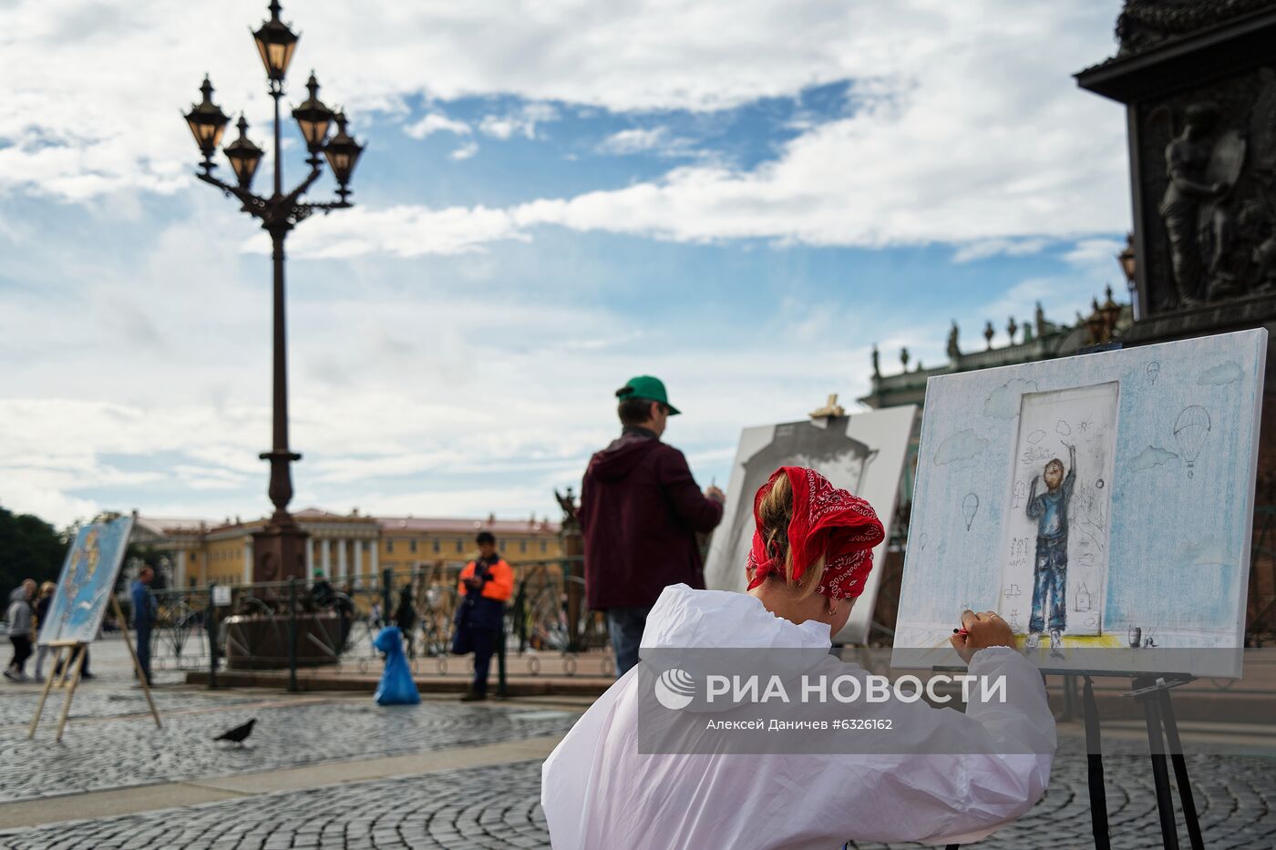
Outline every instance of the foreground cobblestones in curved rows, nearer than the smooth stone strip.
{"label": "foreground cobblestones in curved rows, nearer than the smooth stone strip", "polygon": [[[1206,846],[1276,846],[1276,771],[1270,759],[1189,758]],[[1113,847],[1161,846],[1147,759],[1105,759]],[[1092,847],[1086,761],[1055,762],[1050,790],[1021,821],[984,841],[986,850]],[[547,847],[540,762],[448,771],[212,803],[147,814],[64,823],[0,836],[5,847]],[[1182,822],[1182,818],[1180,818]],[[1187,832],[1180,826],[1184,846]],[[851,844],[856,850],[886,845]],[[921,845],[889,845],[892,849]],[[832,850],[832,849],[831,849]]]}

